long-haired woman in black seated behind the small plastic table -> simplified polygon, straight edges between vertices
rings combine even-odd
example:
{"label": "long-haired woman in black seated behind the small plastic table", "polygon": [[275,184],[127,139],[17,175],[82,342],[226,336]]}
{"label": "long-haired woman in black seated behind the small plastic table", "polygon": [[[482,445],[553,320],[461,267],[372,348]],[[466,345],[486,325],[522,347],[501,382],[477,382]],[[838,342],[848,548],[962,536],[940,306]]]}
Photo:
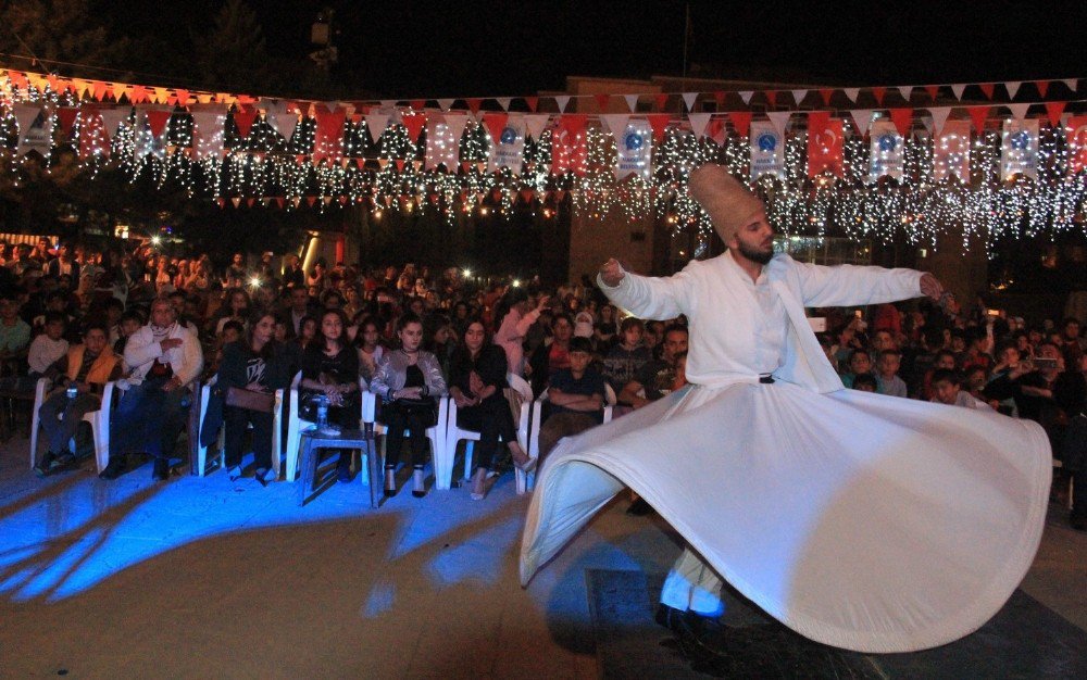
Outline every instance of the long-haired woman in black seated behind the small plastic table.
{"label": "long-haired woman in black seated behind the small plastic table", "polygon": [[[347,341],[347,319],[339,310],[321,315],[321,330],[302,351],[301,410],[316,420],[318,394],[328,398],[328,421],[343,429],[359,428],[362,394],[359,391],[359,353]],[[351,481],[351,452],[342,450],[336,464],[341,482]]]}

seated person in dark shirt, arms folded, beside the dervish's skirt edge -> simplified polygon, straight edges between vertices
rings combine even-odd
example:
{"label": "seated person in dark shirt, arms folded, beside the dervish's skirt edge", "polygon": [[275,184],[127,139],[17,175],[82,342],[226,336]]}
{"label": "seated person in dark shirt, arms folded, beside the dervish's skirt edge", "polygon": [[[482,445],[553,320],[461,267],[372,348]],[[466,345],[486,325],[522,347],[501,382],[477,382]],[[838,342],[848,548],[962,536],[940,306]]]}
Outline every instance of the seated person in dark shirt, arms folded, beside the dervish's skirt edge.
{"label": "seated person in dark shirt, arms folded, beside the dervish's skirt edge", "polygon": [[589,369],[592,343],[588,338],[570,341],[570,367],[551,378],[547,413],[539,432],[540,461],[563,437],[583,432],[603,421],[604,377]]}

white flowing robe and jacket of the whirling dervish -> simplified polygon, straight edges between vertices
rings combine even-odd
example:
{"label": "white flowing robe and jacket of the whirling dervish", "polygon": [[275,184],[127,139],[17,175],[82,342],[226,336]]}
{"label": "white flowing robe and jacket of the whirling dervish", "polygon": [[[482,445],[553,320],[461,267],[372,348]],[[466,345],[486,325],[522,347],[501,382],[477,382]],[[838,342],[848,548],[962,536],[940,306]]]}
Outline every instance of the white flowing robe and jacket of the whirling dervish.
{"label": "white flowing robe and jacket of the whirling dervish", "polygon": [[604,287],[639,317],[687,315],[692,385],[551,452],[528,509],[522,582],[627,486],[725,580],[812,640],[908,652],[976,630],[1041,539],[1044,431],[842,389],[803,307],[917,297],[921,273],[778,255],[764,275],[788,317],[773,385],[758,381],[760,307],[730,254]]}

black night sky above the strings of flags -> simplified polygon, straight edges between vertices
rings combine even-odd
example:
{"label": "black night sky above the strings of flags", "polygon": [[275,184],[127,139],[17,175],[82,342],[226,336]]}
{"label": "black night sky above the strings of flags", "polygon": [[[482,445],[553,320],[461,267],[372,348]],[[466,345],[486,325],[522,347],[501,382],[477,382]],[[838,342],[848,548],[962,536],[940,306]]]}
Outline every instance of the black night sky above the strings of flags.
{"label": "black night sky above the strings of flags", "polygon": [[[1080,0],[250,2],[270,50],[302,61],[323,5],[337,11],[341,61],[334,78],[383,97],[517,96],[561,89],[567,75],[678,74],[688,5],[691,75],[697,64],[734,78],[862,87],[1087,72],[1087,2]],[[221,0],[109,7],[133,33],[182,41],[208,30]],[[193,80],[197,86],[199,74]]]}

